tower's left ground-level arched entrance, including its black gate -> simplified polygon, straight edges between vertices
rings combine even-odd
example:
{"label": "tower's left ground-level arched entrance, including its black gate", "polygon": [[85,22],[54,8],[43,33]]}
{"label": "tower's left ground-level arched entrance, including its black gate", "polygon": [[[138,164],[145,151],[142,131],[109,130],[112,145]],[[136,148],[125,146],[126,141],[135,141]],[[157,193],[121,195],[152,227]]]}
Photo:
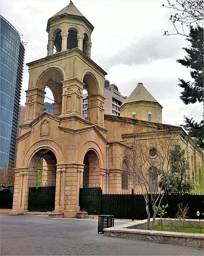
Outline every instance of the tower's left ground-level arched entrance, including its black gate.
{"label": "tower's left ground-level arched entrance, including its black gate", "polygon": [[28,211],[54,210],[56,164],[56,156],[49,149],[41,149],[32,157],[28,177]]}

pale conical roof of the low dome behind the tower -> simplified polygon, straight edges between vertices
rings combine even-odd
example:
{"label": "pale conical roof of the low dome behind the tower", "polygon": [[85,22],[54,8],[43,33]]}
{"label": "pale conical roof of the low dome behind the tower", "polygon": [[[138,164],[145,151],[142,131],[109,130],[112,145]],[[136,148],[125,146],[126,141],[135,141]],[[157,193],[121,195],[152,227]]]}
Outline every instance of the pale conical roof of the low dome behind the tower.
{"label": "pale conical roof of the low dome behind the tower", "polygon": [[133,90],[131,95],[123,102],[123,104],[141,100],[157,102],[149,91],[146,90],[145,86],[142,83],[138,83],[135,90]]}

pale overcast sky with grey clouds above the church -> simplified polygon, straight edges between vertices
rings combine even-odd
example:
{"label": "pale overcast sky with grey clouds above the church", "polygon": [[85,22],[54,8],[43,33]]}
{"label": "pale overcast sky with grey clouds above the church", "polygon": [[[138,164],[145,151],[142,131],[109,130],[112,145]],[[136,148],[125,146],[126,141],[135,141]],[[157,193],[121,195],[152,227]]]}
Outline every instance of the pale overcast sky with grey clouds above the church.
{"label": "pale overcast sky with grey clouds above the church", "polygon": [[[73,0],[73,4],[94,26],[91,59],[104,69],[106,79],[129,96],[137,83],[163,106],[163,123],[184,124],[183,116],[202,119],[202,105],[185,105],[180,100],[178,78],[190,80],[190,70],[176,63],[188,46],[184,36],[163,36],[175,32],[169,20],[174,13],[162,7],[166,0]],[[48,19],[69,4],[69,0],[0,0],[0,13],[27,42],[25,63],[47,55]],[[28,89],[28,67],[24,65],[21,105]]]}

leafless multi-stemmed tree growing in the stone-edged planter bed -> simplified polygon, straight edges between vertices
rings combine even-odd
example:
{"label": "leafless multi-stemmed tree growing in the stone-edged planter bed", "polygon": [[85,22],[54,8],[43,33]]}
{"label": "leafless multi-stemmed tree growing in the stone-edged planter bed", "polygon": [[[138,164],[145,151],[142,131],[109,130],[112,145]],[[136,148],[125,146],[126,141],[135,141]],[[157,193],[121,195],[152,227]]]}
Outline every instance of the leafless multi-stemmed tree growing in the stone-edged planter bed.
{"label": "leafless multi-stemmed tree growing in the stone-edged planter bed", "polygon": [[[174,176],[170,175],[170,150],[178,143],[174,132],[155,131],[151,133],[135,134],[128,143],[130,149],[125,149],[123,158],[128,159],[129,168],[126,168],[129,180],[134,188],[139,186],[146,201],[147,227],[150,229],[150,205],[154,212],[152,230],[155,226],[155,217],[161,201]],[[159,181],[163,177],[162,183]],[[155,207],[157,206],[157,207]]]}

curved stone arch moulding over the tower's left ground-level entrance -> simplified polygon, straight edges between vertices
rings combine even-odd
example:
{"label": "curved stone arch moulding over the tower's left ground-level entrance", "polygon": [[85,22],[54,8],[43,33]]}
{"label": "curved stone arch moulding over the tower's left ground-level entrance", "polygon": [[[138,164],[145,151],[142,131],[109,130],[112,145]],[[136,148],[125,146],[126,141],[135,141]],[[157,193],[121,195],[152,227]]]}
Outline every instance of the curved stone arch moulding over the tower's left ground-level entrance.
{"label": "curved stone arch moulding over the tower's left ground-level entrance", "polygon": [[65,154],[62,148],[55,142],[51,140],[40,140],[36,141],[29,149],[26,151],[23,157],[22,166],[29,166],[30,160],[34,154],[41,149],[49,149],[53,151],[56,156],[57,163],[63,163],[65,161]]}

